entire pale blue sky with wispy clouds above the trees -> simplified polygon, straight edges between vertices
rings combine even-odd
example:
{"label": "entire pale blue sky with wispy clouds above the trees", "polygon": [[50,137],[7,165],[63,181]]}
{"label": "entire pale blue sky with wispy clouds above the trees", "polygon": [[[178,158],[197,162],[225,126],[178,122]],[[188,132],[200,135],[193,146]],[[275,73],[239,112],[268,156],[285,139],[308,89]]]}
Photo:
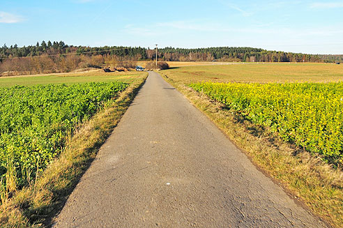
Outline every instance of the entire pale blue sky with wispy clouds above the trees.
{"label": "entire pale blue sky with wispy clouds above the trees", "polygon": [[0,0],[0,45],[261,47],[343,54],[343,1]]}

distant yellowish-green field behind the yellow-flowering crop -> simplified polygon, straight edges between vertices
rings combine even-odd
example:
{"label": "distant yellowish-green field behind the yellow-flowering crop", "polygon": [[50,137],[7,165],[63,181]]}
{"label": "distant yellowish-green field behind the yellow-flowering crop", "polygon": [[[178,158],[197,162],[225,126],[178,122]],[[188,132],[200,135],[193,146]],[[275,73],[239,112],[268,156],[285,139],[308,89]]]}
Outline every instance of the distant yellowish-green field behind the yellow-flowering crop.
{"label": "distant yellowish-green field behind the yellow-flowering crop", "polygon": [[343,80],[343,65],[324,63],[254,63],[213,66],[183,66],[163,70],[176,82],[337,82]]}

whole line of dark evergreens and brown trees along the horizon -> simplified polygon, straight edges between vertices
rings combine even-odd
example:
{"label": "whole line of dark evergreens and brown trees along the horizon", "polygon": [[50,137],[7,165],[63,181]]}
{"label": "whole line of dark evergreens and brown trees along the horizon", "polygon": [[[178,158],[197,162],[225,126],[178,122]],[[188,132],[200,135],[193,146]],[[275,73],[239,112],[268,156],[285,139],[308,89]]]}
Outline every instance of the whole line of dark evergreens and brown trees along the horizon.
{"label": "whole line of dark evergreens and brown trees along the horizon", "polygon": [[[155,50],[145,47],[86,47],[63,41],[42,41],[36,45],[0,47],[0,73],[32,74],[69,72],[77,68],[102,67],[125,61],[155,59]],[[326,62],[343,61],[343,55],[314,55],[276,52],[253,47],[174,48],[158,50],[165,61],[243,61],[243,62]]]}

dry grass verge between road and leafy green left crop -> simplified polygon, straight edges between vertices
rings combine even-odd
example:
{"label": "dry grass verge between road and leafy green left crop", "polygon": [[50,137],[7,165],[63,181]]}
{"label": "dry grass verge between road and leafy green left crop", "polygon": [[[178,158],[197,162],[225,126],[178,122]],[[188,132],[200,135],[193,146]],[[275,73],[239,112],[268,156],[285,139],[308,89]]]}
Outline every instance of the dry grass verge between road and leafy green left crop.
{"label": "dry grass verge between road and leafy green left crop", "polygon": [[61,210],[145,79],[142,77],[132,82],[118,99],[84,123],[69,138],[59,158],[40,174],[35,183],[16,192],[8,202],[1,205],[0,227],[49,226],[51,218]]}

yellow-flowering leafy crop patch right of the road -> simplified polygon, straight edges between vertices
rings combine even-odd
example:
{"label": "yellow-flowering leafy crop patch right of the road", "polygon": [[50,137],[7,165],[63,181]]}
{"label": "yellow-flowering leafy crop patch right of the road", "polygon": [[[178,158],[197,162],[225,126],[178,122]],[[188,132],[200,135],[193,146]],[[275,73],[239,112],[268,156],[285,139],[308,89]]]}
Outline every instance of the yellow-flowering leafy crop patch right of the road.
{"label": "yellow-flowering leafy crop patch right of the road", "polygon": [[343,83],[190,84],[287,142],[343,162]]}

